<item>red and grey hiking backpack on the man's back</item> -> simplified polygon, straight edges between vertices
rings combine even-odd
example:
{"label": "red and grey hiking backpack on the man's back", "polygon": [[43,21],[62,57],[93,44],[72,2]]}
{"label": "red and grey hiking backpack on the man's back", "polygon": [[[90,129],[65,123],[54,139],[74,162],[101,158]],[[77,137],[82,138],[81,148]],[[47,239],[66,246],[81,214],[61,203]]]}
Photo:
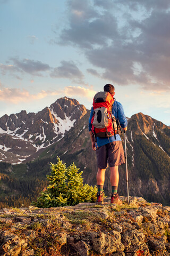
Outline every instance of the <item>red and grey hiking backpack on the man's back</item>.
{"label": "red and grey hiking backpack on the man's back", "polygon": [[94,115],[91,119],[95,137],[108,138],[118,133],[117,121],[112,114],[113,95],[109,92],[96,93],[93,101]]}

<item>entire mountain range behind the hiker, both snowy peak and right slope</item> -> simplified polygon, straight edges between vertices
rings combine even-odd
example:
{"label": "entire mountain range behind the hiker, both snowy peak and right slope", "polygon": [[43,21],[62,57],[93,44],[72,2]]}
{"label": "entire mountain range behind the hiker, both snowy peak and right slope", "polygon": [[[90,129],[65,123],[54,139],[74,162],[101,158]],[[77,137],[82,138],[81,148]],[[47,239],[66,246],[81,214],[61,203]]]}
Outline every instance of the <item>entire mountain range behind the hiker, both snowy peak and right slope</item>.
{"label": "entire mountain range behind the hiker, both snowy peak and right slope", "polygon": [[[84,183],[96,185],[96,154],[91,149],[89,138],[89,115],[90,110],[79,105],[78,101],[64,97],[37,114],[21,111],[16,114],[16,119],[13,115],[0,118],[1,201],[5,202],[5,195],[8,195],[8,201],[11,200],[11,205],[14,202],[21,204],[23,200],[27,205],[35,200],[47,185],[45,178],[50,171],[49,164],[56,163],[57,156],[66,165],[74,162],[83,171]],[[121,138],[124,146],[124,134]],[[142,196],[147,201],[170,205],[169,143],[170,129],[162,122],[142,113],[128,119],[126,146],[131,196]],[[4,165],[4,159],[6,163],[25,160],[21,165]],[[118,193],[126,196],[125,165],[119,167],[119,172]],[[109,196],[109,168],[106,170],[104,190]],[[15,206],[20,207],[20,204]]]}

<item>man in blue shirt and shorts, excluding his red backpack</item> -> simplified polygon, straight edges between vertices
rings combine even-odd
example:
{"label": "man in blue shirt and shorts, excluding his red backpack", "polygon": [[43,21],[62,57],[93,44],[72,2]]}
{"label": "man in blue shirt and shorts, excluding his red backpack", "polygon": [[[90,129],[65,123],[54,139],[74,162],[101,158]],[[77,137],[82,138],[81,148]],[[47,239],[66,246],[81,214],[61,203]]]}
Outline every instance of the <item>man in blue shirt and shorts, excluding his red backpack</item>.
{"label": "man in blue shirt and shorts, excluding his red backpack", "polygon": [[[104,86],[104,91],[111,93],[113,96],[115,95],[115,89],[112,84],[106,84]],[[123,106],[120,102],[114,101],[112,113],[120,122],[121,127],[124,131],[127,130],[128,121],[125,117]],[[91,127],[91,119],[94,114],[94,109],[91,109],[90,118],[89,118],[89,133],[91,138],[91,146],[92,150],[96,150],[97,156],[97,165],[98,172],[96,175],[97,179],[97,203],[103,204],[104,196],[103,196],[103,187],[105,182],[105,171],[107,167],[107,162],[109,164],[111,170],[111,185],[112,185],[112,195],[111,195],[111,203],[121,205],[122,201],[118,197],[117,187],[119,181],[119,173],[118,173],[118,165],[124,164],[124,151],[122,146],[122,141],[119,134],[116,134],[116,138],[114,136],[108,138],[99,138],[97,137],[97,143],[95,143],[94,134],[92,133]]]}

